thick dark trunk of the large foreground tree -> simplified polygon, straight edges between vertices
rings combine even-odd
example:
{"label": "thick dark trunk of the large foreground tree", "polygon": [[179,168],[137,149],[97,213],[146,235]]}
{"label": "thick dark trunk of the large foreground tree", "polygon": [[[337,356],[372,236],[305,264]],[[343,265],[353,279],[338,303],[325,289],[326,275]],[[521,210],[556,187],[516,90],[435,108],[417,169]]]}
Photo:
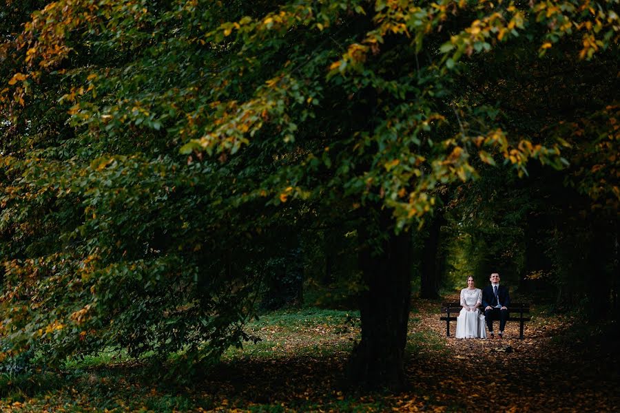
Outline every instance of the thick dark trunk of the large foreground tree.
{"label": "thick dark trunk of the large foreground tree", "polygon": [[411,301],[411,234],[391,233],[380,255],[360,251],[368,290],[361,299],[362,340],[351,354],[349,379],[362,388],[399,391]]}

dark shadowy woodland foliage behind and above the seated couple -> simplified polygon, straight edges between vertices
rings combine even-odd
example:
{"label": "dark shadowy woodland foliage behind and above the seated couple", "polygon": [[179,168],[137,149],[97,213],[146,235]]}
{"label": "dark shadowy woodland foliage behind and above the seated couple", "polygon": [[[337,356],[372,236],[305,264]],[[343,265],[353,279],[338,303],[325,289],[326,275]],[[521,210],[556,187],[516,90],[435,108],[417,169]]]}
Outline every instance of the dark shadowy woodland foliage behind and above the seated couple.
{"label": "dark shadowy woodland foliage behind and above the seated couple", "polygon": [[[497,116],[513,133],[561,142],[570,165],[559,173],[529,162],[528,176],[520,180],[505,167],[477,168],[479,179],[452,191],[448,201],[448,266],[456,267],[458,288],[467,274],[480,284],[499,271],[515,287],[555,288],[558,304],[568,309],[593,308],[592,303],[612,302],[619,285],[612,245],[620,199],[614,155],[619,150],[614,90],[620,84],[608,70],[619,56],[575,61],[570,59],[575,43],[561,42],[538,59],[524,52],[531,39],[530,34],[521,39],[521,50],[499,50],[494,61],[485,59],[484,71],[466,72],[461,83],[471,103],[499,105]],[[589,252],[593,240],[596,251]],[[599,294],[589,289],[593,268],[610,286],[608,296],[605,286]],[[608,315],[603,310],[598,317]]]}

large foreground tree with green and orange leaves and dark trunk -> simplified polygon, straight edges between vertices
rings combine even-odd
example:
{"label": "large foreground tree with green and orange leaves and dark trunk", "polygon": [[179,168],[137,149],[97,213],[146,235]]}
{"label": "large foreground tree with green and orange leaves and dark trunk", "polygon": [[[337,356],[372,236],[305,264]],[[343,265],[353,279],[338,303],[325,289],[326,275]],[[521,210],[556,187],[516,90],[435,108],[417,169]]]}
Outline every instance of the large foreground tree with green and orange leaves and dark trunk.
{"label": "large foreground tree with green and orange leaves and dark trunk", "polygon": [[[320,224],[358,245],[353,377],[391,388],[404,384],[411,241],[438,185],[496,162],[519,175],[532,159],[566,164],[556,134],[508,121],[530,93],[510,56],[561,50],[569,67],[598,67],[619,39],[612,0],[6,4],[0,253],[14,350],[216,359],[248,338],[270,244]],[[494,81],[479,82],[489,67]],[[614,105],[588,113],[613,125]]]}

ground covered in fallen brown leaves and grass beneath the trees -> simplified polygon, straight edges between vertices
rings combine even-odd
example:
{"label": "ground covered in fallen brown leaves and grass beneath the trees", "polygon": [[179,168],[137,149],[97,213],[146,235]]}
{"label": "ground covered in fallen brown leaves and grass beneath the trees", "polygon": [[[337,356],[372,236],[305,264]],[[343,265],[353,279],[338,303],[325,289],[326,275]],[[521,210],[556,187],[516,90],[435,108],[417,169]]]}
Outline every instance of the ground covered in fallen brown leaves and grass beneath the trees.
{"label": "ground covered in fallen brown leaves and grass beneath the trees", "polygon": [[[438,301],[416,299],[405,363],[409,390],[350,390],[351,315],[311,313],[249,326],[262,339],[180,386],[128,361],[90,368],[47,394],[0,400],[2,412],[611,412],[620,405],[613,323],[537,315],[504,339],[446,337]],[[610,330],[611,328],[611,330]],[[451,323],[451,334],[455,323]],[[142,372],[144,370],[144,372]],[[65,376],[68,374],[64,372]],[[103,391],[105,390],[105,391]]]}

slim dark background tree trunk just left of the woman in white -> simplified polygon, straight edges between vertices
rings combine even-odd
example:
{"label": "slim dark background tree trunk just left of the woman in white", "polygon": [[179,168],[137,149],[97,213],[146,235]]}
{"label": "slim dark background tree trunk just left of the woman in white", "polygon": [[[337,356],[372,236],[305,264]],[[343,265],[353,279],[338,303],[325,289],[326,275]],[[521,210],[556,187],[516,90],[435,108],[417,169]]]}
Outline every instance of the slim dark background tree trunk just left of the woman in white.
{"label": "slim dark background tree trunk just left of the woman in white", "polygon": [[420,297],[435,299],[439,297],[440,284],[440,235],[444,215],[438,210],[433,222],[428,227],[428,237],[422,248],[422,268],[420,271]]}

